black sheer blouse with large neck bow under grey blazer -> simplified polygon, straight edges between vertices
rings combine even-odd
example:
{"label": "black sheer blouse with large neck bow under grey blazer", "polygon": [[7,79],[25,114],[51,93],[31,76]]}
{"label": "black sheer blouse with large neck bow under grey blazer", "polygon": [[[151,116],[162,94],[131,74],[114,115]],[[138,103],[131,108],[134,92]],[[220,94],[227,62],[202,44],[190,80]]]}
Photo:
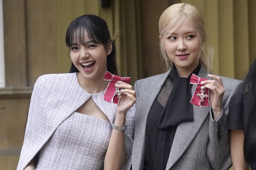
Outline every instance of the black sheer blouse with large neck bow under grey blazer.
{"label": "black sheer blouse with large neck bow under grey blazer", "polygon": [[[191,73],[197,75],[201,65]],[[147,117],[144,170],[165,170],[177,126],[194,121],[190,78],[180,78],[175,66]]]}

